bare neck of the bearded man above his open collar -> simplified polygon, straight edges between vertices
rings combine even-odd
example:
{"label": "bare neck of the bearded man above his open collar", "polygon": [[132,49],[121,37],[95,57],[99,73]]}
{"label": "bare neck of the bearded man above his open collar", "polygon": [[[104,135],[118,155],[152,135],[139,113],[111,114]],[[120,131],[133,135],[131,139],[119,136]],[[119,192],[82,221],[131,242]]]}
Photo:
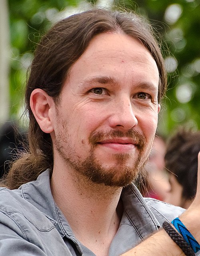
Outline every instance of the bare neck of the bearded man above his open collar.
{"label": "bare neck of the bearded man above his open collar", "polygon": [[94,184],[76,170],[55,166],[51,189],[76,238],[96,255],[108,255],[122,216],[122,188]]}

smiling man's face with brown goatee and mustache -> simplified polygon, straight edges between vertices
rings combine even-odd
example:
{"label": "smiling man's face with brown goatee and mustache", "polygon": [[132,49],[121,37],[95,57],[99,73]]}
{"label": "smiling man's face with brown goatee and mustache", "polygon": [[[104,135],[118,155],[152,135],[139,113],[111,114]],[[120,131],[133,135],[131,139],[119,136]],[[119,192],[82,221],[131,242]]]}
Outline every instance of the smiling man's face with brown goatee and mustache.
{"label": "smiling man's face with brown goatee and mustache", "polygon": [[139,41],[114,33],[93,38],[56,105],[54,165],[62,162],[95,183],[129,184],[154,139],[158,81],[156,62]]}

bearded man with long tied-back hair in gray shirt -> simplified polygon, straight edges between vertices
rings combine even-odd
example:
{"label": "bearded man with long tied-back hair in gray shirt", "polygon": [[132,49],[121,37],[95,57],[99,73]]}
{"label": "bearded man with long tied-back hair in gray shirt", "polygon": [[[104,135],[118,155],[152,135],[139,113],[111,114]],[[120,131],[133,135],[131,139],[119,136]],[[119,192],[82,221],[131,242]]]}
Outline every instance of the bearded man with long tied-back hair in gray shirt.
{"label": "bearded man with long tied-back hair in gray shirt", "polygon": [[[184,255],[158,232],[183,209],[144,200],[132,184],[165,90],[159,47],[137,16],[90,10],[58,22],[32,62],[30,152],[6,181],[22,186],[0,194],[0,254],[120,255],[157,231],[127,255]],[[196,239],[199,201],[180,217]]]}

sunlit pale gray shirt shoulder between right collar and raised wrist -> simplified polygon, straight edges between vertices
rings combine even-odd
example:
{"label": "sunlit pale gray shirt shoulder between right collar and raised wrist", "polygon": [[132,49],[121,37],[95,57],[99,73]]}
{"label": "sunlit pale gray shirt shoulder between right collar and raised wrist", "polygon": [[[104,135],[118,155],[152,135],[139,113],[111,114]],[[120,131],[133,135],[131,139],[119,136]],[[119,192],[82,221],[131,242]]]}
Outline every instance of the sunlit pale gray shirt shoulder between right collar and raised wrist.
{"label": "sunlit pale gray shirt shoulder between right collar and raised wrist", "polygon": [[171,222],[174,218],[180,216],[185,211],[185,209],[181,207],[153,198],[144,198],[144,200],[160,224],[165,220]]}

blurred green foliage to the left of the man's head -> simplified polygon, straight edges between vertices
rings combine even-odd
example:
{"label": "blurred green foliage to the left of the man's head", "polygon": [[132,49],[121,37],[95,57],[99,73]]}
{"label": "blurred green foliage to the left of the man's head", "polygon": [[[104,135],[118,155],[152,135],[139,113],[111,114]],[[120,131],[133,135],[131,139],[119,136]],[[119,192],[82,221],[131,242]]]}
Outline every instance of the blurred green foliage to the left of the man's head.
{"label": "blurred green foliage to the left of the man's head", "polygon": [[[9,0],[10,12],[10,119],[24,108],[26,70],[42,34],[58,20],[58,13],[76,6],[74,0]],[[61,16],[61,14],[59,15]]]}

